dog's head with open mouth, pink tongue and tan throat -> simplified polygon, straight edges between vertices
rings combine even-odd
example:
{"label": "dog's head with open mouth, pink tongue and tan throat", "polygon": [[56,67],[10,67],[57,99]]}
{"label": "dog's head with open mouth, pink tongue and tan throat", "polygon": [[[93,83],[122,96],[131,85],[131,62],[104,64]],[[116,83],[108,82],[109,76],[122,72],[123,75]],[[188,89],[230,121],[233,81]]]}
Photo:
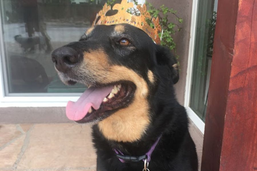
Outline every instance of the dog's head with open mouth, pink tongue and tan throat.
{"label": "dog's head with open mouth, pink tongue and tan throat", "polygon": [[97,122],[106,138],[132,142],[150,124],[161,82],[178,81],[176,59],[142,30],[128,24],[89,28],[77,42],[52,53],[61,80],[88,87],[69,102],[66,114],[79,123]]}

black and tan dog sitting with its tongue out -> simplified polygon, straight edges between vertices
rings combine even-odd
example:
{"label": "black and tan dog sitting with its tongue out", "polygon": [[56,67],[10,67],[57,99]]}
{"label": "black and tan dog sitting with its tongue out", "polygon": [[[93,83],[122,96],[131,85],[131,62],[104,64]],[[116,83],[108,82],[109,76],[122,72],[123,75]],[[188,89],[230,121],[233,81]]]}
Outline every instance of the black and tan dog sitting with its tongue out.
{"label": "black and tan dog sitting with its tongue out", "polygon": [[177,62],[167,48],[132,25],[98,25],[56,49],[52,60],[65,84],[90,87],[66,114],[95,124],[98,171],[141,171],[146,158],[150,171],[198,170],[187,114],[174,95]]}

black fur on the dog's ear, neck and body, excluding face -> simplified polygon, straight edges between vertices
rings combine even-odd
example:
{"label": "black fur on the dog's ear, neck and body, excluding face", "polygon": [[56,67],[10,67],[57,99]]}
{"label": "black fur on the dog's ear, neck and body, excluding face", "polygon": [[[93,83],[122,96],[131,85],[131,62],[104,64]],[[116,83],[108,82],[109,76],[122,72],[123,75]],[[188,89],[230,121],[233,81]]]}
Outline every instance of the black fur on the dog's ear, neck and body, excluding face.
{"label": "black fur on the dog's ear, neck and body, excluding face", "polygon": [[[99,132],[97,125],[93,127],[93,142],[97,149],[97,170],[99,171],[136,171],[143,169],[143,162],[121,163],[113,148],[124,154],[141,156],[145,154],[161,135],[154,149],[149,170],[158,171],[197,171],[198,160],[196,148],[188,132],[188,117],[185,108],[176,100],[173,84],[178,81],[178,70],[172,67],[176,59],[170,50],[156,45],[156,66],[154,74],[158,74],[157,87],[152,87],[148,101],[151,102],[151,120],[146,134],[134,143],[118,143],[107,141]],[[152,68],[152,69],[153,69]]]}

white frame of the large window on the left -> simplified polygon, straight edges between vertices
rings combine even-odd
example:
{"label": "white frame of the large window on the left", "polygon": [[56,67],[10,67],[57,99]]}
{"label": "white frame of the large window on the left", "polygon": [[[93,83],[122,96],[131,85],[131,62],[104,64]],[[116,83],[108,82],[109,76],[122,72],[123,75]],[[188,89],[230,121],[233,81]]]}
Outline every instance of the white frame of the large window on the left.
{"label": "white frame of the large window on the left", "polygon": [[[145,0],[138,0],[138,4],[144,3]],[[5,67],[5,49],[1,19],[2,14],[0,13],[0,107],[65,107],[68,101],[77,101],[82,93],[69,93],[74,96],[69,96],[68,93],[63,93],[64,96],[56,96],[57,93],[47,93],[49,96],[29,96],[29,93],[26,93],[26,96],[14,96],[15,94],[12,93],[13,96],[5,96],[4,87],[7,81],[4,80],[6,68],[3,68]],[[41,93],[37,94],[40,95]]]}

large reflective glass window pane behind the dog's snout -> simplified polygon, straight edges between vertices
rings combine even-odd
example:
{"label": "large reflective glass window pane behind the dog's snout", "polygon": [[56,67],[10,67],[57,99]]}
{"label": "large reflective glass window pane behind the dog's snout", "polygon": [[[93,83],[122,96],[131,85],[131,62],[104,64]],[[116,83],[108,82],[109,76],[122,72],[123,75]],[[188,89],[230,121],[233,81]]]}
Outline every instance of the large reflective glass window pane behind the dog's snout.
{"label": "large reflective glass window pane behind the dog's snout", "polygon": [[51,51],[77,41],[106,1],[0,0],[6,95],[83,92],[59,80]]}

